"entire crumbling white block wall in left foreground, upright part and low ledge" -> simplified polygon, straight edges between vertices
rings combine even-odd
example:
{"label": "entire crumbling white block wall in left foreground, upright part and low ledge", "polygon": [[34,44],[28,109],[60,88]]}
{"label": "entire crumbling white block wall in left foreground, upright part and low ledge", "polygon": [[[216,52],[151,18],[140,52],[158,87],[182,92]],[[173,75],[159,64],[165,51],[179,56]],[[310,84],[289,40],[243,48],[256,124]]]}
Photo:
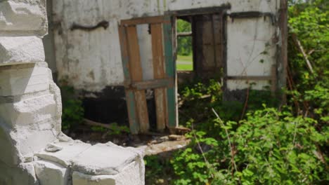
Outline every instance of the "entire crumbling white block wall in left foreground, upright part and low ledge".
{"label": "entire crumbling white block wall in left foreground, upright part and low ledge", "polygon": [[44,0],[0,1],[0,184],[144,184],[142,153],[74,141],[44,62]]}

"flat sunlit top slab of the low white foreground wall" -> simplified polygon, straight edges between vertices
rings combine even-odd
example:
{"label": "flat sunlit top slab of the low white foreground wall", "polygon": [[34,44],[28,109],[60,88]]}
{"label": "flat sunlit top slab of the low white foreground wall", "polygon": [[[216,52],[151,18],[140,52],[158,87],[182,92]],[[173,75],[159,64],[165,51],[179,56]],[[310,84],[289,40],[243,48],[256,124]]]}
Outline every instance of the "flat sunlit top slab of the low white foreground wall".
{"label": "flat sunlit top slab of the low white foreground wall", "polygon": [[91,145],[79,140],[60,142],[60,139],[48,144],[34,156],[91,175],[119,174],[129,163],[143,160],[143,151],[117,146],[112,142]]}

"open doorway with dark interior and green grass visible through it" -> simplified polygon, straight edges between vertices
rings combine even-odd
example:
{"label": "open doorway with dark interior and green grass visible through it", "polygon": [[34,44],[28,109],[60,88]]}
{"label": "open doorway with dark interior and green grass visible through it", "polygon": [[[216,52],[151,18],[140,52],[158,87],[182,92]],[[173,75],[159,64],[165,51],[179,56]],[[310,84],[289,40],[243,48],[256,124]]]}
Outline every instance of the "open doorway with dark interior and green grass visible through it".
{"label": "open doorway with dark interior and green grass visible through it", "polygon": [[195,78],[224,78],[225,11],[205,8],[175,12],[176,72],[178,83]]}

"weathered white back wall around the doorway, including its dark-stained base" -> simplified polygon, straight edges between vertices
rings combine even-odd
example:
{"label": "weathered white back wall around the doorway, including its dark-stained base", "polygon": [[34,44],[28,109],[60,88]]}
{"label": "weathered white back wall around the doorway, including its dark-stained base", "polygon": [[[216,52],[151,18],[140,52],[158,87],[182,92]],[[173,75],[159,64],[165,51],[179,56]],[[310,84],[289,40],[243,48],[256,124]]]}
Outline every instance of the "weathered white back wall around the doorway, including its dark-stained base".
{"label": "weathered white back wall around the doorway, including its dark-stained base", "polygon": [[[58,79],[66,79],[77,90],[81,90],[87,118],[103,123],[127,118],[118,33],[120,21],[228,4],[231,8],[226,11],[224,19],[224,72],[228,77],[225,78],[226,90],[243,90],[248,88],[248,84],[254,84],[252,88],[257,90],[271,86],[269,81],[273,80],[273,71],[276,76],[282,76],[284,71],[282,63],[277,60],[280,0],[53,1],[54,52]],[[104,20],[109,23],[106,28],[98,27],[89,31],[71,29],[72,25],[92,27]],[[153,70],[150,70],[153,67],[151,41],[147,26],[138,26],[138,42],[141,46],[143,79],[153,79]],[[250,79],[239,76],[250,76]],[[265,78],[259,80],[258,76]],[[278,88],[284,86],[284,81],[275,83],[278,83]],[[116,104],[116,107],[112,107],[112,104]]]}

